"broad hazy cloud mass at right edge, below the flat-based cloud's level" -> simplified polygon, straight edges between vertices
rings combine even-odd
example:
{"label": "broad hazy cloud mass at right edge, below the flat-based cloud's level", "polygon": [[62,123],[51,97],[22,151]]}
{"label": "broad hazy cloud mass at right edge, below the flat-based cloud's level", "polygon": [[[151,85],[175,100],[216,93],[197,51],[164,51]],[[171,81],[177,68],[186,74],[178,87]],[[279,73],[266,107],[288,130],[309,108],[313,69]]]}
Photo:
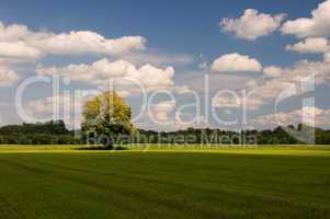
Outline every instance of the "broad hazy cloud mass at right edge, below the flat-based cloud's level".
{"label": "broad hazy cloud mass at right edge, below the flat-based cloud's level", "polygon": [[[319,84],[329,82],[330,61],[329,57],[325,55],[323,61],[300,60],[287,68],[270,66],[263,69],[263,80],[258,82],[250,80],[246,83],[249,93],[258,94],[257,97],[247,100],[247,107],[250,110],[257,110],[274,101],[281,102],[292,96],[299,96],[312,91]],[[241,102],[232,102],[232,100],[229,102],[228,100],[220,100],[217,103],[241,106]],[[249,104],[252,107],[249,107]]]}

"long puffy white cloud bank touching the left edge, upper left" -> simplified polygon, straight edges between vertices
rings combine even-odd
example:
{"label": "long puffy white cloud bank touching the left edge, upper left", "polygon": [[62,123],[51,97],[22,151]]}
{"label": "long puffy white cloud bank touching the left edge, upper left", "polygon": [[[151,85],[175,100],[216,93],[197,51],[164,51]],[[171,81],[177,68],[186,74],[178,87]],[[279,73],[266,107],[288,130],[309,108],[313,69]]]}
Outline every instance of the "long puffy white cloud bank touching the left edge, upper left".
{"label": "long puffy white cloud bank touching the left edge, upper left", "polygon": [[52,33],[32,31],[21,24],[4,25],[0,22],[0,57],[39,58],[46,55],[122,54],[145,49],[143,36],[105,38],[91,31]]}

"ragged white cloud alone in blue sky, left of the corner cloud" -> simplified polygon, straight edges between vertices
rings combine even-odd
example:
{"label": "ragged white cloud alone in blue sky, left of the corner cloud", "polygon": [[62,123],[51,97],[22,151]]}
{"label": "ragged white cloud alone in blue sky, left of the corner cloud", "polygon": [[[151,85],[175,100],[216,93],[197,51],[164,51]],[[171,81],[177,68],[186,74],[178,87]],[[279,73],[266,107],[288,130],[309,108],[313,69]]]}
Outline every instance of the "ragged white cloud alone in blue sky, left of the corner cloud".
{"label": "ragged white cloud alone in blue sky, left of the corner cloud", "polygon": [[239,38],[254,41],[276,31],[285,16],[283,13],[272,15],[247,9],[239,19],[223,19],[220,26],[224,32],[234,33]]}

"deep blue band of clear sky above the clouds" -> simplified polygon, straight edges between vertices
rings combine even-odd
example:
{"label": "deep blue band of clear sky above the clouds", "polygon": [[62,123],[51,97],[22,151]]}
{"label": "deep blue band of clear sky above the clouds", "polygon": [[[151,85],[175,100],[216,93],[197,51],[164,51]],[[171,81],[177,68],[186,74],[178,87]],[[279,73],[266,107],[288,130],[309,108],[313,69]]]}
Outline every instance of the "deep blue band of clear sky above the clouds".
{"label": "deep blue band of clear sky above the clouds", "polygon": [[240,51],[251,54],[266,65],[288,65],[297,60],[297,56],[284,54],[283,47],[294,42],[294,37],[281,37],[275,33],[251,44],[221,33],[218,23],[223,18],[237,18],[249,8],[264,13],[287,13],[288,19],[308,16],[319,2],[1,1],[0,19],[4,23],[23,23],[34,30],[89,30],[107,37],[143,35],[148,38],[150,48],[168,53],[202,53],[216,58],[219,54]]}

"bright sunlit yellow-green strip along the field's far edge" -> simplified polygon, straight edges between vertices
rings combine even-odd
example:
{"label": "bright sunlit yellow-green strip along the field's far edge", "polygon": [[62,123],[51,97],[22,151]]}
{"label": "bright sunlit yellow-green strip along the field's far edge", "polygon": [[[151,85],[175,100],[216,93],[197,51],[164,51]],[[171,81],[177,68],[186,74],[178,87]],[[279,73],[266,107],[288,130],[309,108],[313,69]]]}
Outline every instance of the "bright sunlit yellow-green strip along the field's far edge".
{"label": "bright sunlit yellow-green strip along the field's far edge", "polygon": [[230,154],[270,154],[270,155],[311,155],[330,157],[329,146],[163,146],[129,145],[128,150],[78,150],[87,146],[19,146],[2,145],[0,153],[230,153]]}

